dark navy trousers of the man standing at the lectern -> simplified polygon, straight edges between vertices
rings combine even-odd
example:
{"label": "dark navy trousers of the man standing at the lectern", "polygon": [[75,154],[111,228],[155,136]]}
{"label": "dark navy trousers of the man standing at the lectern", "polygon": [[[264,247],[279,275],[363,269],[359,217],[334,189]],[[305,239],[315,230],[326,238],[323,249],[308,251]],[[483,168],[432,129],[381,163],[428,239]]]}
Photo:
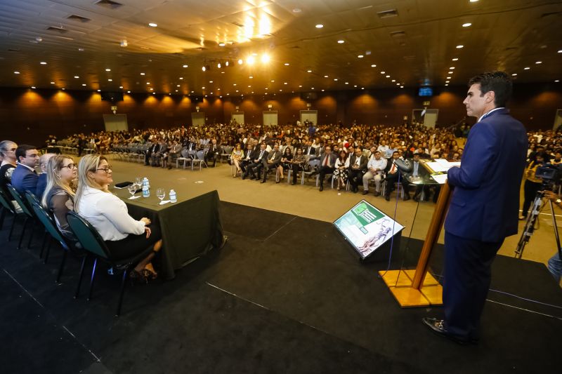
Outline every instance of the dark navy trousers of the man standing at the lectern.
{"label": "dark navy trousers of the man standing at the lectern", "polygon": [[491,266],[502,243],[503,240],[491,243],[445,232],[445,328],[460,339],[478,339]]}

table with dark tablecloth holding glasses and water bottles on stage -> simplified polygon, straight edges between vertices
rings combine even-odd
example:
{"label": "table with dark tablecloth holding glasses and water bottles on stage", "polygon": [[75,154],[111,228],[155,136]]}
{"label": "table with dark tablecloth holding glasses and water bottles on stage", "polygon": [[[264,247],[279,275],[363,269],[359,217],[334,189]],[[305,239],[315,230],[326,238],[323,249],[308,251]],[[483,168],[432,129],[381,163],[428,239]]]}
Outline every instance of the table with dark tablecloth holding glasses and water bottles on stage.
{"label": "table with dark tablecloth holding glasses and water bottles on stage", "polygon": [[[159,205],[154,188],[150,190],[150,197],[134,200],[129,200],[131,194],[127,189],[114,188],[112,192],[126,203],[133,218],[150,218],[152,225],[160,226],[163,246],[159,274],[162,279],[173,279],[176,269],[223,244],[216,190],[197,196],[178,196],[178,202],[164,205]],[[166,198],[168,192],[166,189]]]}

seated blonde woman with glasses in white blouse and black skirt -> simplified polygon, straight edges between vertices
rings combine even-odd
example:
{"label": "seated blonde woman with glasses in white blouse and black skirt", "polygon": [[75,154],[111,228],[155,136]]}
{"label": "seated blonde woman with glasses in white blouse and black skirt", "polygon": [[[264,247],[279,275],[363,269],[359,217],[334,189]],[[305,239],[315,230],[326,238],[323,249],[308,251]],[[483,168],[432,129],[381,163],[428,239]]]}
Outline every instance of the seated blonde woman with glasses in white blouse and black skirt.
{"label": "seated blonde woman with glasses in white blouse and black skirt", "polygon": [[117,259],[131,258],[153,246],[145,259],[131,270],[133,279],[148,281],[157,274],[151,260],[162,247],[159,227],[149,227],[150,220],[134,220],[125,203],[108,187],[113,182],[111,166],[104,156],[86,154],[78,164],[78,189],[74,196],[74,211],[95,227]]}

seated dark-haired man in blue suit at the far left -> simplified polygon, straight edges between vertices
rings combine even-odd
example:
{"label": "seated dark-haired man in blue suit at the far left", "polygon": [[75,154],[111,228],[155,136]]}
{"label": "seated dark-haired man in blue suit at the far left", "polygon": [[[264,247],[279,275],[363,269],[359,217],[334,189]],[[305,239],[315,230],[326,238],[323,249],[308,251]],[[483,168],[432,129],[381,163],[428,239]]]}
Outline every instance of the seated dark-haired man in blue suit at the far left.
{"label": "seated dark-haired man in blue suit at the far left", "polygon": [[39,163],[39,152],[33,145],[20,145],[15,149],[18,166],[12,173],[12,186],[22,195],[25,191],[35,192],[39,176],[35,171]]}

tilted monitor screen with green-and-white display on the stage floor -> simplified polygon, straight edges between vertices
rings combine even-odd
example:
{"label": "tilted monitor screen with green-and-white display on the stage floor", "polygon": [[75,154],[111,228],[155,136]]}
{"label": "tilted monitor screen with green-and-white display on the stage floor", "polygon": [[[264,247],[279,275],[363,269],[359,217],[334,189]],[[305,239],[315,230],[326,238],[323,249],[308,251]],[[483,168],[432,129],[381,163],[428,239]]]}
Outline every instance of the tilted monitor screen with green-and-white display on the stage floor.
{"label": "tilted monitor screen with green-and-white display on the stage floor", "polygon": [[366,258],[404,229],[403,225],[365,200],[344,213],[334,225],[361,258]]}

